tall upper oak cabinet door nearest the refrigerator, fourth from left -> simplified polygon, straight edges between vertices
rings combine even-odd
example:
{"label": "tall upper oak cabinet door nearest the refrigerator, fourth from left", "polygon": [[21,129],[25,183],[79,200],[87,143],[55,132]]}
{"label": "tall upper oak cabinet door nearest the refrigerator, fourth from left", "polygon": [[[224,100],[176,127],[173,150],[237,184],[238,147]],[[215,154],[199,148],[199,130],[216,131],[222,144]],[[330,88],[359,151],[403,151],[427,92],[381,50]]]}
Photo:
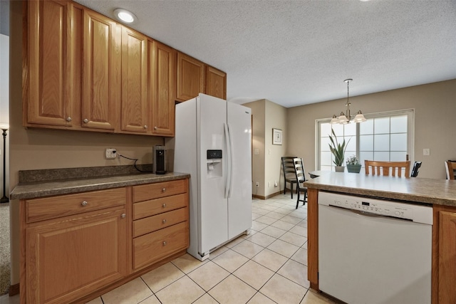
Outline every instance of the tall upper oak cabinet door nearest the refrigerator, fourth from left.
{"label": "tall upper oak cabinet door nearest the refrigerator, fourth from left", "polygon": [[157,41],[149,46],[152,134],[174,136],[177,51]]}

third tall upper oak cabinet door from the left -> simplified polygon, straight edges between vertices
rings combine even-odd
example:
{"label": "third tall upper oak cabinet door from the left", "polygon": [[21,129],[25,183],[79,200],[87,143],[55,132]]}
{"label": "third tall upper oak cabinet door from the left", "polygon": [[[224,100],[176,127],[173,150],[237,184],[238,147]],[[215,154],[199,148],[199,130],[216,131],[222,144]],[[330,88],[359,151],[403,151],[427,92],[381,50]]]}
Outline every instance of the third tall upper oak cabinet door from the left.
{"label": "third tall upper oak cabinet door from the left", "polygon": [[122,130],[147,132],[147,37],[122,26]]}

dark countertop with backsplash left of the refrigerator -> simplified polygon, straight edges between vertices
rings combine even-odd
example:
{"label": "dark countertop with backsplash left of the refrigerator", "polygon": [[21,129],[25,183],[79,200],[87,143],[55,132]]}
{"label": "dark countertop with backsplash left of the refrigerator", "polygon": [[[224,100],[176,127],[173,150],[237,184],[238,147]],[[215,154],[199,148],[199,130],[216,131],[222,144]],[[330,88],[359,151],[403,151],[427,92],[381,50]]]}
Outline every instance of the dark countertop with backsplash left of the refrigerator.
{"label": "dark countertop with backsplash left of the refrigerator", "polygon": [[[93,172],[100,172],[99,168],[100,167],[19,172],[19,184],[9,194],[9,198],[31,199],[43,196],[73,194],[190,178],[190,174],[178,172],[168,172],[166,174],[140,172],[125,173],[125,170],[124,172],[122,172],[122,170],[119,171],[117,167],[115,167],[115,175],[95,176]],[[50,173],[50,171],[53,172]],[[65,178],[62,178],[62,172],[65,172]],[[71,172],[77,174],[78,178],[75,178]],[[109,170],[107,171],[107,169],[103,167],[102,172],[103,174],[108,174]],[[113,171],[111,170],[111,172]],[[81,177],[81,175],[83,177]]]}

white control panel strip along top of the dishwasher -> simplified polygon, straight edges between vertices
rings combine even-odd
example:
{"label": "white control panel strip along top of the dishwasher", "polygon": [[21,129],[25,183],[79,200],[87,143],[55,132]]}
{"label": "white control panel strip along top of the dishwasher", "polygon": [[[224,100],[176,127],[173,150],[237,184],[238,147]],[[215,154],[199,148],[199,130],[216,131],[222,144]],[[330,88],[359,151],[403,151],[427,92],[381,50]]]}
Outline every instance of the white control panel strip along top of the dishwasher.
{"label": "white control panel strip along top of the dishwasher", "polygon": [[[318,204],[432,224],[432,207],[346,194],[318,193]],[[430,223],[429,223],[430,222]]]}

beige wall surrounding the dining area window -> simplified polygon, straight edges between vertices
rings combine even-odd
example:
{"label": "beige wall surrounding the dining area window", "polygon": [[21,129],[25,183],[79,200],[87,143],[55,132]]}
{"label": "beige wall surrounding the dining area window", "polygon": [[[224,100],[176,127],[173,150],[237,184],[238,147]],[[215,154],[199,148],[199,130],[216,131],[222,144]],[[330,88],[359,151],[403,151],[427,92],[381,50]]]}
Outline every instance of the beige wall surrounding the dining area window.
{"label": "beige wall surrounding the dining area window", "polygon": [[[352,112],[362,110],[364,114],[415,109],[415,159],[412,160],[423,162],[418,177],[446,178],[443,162],[456,159],[456,80],[361,95],[350,101]],[[303,157],[307,172],[316,169],[316,119],[345,111],[345,102],[344,98],[287,109],[289,138],[294,139],[289,141],[287,151]],[[429,156],[423,156],[424,148],[430,148]]]}

